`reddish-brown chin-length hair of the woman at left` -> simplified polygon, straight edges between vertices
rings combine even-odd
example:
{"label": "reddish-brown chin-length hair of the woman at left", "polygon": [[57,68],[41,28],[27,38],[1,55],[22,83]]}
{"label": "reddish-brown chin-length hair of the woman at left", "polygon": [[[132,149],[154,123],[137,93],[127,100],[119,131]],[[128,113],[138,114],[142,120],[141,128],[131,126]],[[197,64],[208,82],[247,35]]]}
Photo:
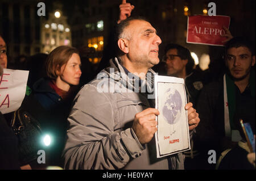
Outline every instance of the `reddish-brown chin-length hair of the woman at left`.
{"label": "reddish-brown chin-length hair of the woman at left", "polygon": [[79,50],[69,46],[60,46],[52,50],[46,60],[47,76],[56,79],[59,76],[57,70],[60,71],[61,66],[67,64],[73,53],[79,54]]}

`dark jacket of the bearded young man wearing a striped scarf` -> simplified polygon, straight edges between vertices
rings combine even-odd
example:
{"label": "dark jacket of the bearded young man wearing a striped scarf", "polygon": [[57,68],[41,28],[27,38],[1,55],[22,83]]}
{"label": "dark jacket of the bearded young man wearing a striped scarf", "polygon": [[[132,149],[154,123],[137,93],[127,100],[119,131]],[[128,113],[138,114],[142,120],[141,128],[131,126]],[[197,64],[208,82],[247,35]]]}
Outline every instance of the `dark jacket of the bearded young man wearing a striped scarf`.
{"label": "dark jacket of the bearded young man wearing a striped scarf", "polygon": [[[255,95],[251,95],[253,94],[250,91],[251,86],[253,85],[247,86],[240,96],[238,96],[240,92],[238,87],[234,86],[236,92],[236,107],[232,120],[235,124],[234,129],[240,130],[238,121],[240,118],[246,122],[255,120]],[[204,150],[216,150],[217,155],[232,148],[234,142],[225,136],[223,77],[218,82],[209,83],[204,87],[197,101],[196,110],[200,118],[195,136],[197,145]]]}

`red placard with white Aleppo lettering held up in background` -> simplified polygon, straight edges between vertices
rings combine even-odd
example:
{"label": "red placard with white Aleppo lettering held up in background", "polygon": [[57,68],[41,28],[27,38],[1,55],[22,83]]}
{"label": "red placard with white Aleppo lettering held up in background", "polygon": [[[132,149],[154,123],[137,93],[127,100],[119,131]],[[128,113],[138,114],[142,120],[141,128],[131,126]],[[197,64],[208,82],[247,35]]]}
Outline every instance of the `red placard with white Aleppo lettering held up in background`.
{"label": "red placard with white Aleppo lettering held up in background", "polygon": [[224,46],[223,26],[229,28],[229,16],[188,16],[187,43]]}

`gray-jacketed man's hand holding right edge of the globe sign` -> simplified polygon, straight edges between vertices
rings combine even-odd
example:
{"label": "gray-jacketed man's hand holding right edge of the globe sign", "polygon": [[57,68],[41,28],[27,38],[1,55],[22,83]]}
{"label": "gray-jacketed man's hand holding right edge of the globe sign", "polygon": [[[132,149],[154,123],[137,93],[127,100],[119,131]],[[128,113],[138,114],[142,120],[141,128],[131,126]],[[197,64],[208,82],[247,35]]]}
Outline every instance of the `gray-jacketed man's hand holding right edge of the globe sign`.
{"label": "gray-jacketed man's hand holding right edge of the globe sign", "polygon": [[185,106],[185,110],[188,110],[189,131],[195,129],[200,122],[199,115],[192,106],[192,103],[187,103]]}

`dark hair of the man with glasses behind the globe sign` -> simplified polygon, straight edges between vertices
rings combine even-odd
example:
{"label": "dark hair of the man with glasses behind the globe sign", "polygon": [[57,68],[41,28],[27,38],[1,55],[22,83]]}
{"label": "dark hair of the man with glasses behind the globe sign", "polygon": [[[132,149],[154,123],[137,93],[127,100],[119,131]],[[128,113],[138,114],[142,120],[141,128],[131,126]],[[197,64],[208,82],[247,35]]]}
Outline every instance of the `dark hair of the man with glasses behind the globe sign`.
{"label": "dark hair of the man with glasses behind the globe sign", "polygon": [[168,44],[166,48],[164,49],[164,55],[168,52],[170,49],[177,49],[177,54],[180,56],[181,60],[188,59],[188,63],[186,65],[186,73],[187,75],[190,74],[195,66],[195,61],[193,57],[191,56],[191,52],[181,45],[178,44]]}

